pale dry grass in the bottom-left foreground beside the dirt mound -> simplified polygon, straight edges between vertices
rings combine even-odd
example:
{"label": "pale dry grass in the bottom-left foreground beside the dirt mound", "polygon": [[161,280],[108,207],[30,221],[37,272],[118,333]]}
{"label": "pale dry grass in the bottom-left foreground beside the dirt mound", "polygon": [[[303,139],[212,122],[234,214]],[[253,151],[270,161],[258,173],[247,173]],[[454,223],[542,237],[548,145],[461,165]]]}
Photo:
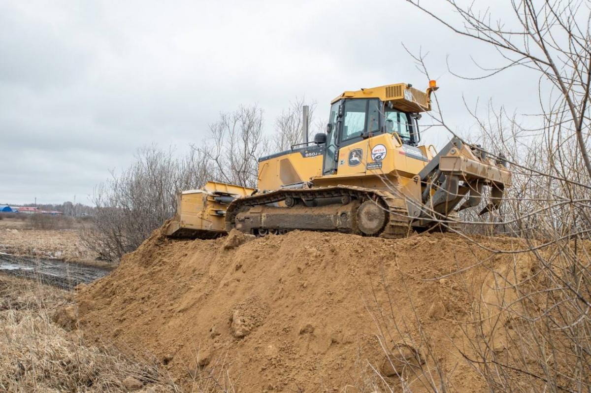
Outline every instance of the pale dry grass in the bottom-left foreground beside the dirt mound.
{"label": "pale dry grass in the bottom-left foreground beside the dirt mound", "polygon": [[[0,275],[0,391],[176,392],[160,367],[113,348],[85,343],[79,330],[53,322],[72,293]],[[136,381],[136,382],[137,382]]]}

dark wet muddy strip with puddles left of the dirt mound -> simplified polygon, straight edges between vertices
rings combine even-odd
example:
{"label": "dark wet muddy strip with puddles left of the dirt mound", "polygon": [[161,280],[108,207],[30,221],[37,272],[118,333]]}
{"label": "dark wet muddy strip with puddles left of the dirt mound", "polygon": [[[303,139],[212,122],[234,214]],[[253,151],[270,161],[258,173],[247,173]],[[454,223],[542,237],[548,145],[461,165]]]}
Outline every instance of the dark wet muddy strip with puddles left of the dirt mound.
{"label": "dark wet muddy strip with puddles left of the dirt mound", "polygon": [[59,259],[0,254],[0,272],[34,278],[44,284],[71,289],[78,284],[95,281],[109,274],[111,270]]}

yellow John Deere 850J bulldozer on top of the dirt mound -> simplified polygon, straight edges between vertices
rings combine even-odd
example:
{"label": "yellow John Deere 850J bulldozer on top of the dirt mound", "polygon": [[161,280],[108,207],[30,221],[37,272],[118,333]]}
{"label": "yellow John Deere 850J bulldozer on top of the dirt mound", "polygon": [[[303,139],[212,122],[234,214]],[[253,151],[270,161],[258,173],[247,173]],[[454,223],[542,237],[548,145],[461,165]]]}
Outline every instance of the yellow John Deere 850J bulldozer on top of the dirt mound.
{"label": "yellow John Deere 850J bulldozer on top of the dirt mound", "polygon": [[[168,236],[213,238],[231,229],[265,236],[320,230],[398,238],[453,228],[457,212],[498,209],[511,173],[501,155],[453,138],[441,151],[420,144],[425,92],[405,83],[346,91],[332,100],[326,133],[259,158],[256,189],[208,182],[178,195]],[[304,115],[304,122],[307,116]],[[462,202],[460,204],[460,202]]]}

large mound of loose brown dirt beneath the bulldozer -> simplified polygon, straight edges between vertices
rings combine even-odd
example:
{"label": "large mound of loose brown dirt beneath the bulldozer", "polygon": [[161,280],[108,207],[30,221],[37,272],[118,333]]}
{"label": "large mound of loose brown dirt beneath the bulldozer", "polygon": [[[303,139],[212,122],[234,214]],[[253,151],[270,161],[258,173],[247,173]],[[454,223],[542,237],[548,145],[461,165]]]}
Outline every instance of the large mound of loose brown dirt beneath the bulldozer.
{"label": "large mound of loose brown dirt beneath the bulldozer", "polygon": [[[486,301],[482,288],[502,285],[495,269],[528,272],[511,255],[450,234],[235,238],[156,231],[80,291],[85,334],[154,353],[189,388],[218,378],[247,392],[371,391],[405,373],[413,391],[442,375],[456,391],[480,391],[460,355],[470,310]],[[491,337],[501,347],[504,339]]]}

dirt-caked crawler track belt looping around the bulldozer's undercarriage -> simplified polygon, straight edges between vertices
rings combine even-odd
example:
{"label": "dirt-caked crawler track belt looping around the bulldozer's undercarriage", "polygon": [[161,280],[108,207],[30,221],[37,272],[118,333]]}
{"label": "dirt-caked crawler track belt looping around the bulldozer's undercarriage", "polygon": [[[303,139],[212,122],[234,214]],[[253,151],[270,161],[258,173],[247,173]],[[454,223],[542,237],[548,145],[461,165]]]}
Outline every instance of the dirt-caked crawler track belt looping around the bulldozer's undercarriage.
{"label": "dirt-caked crawler track belt looping around the bulldozer's undercarriage", "polygon": [[[264,194],[257,194],[248,197],[241,197],[233,200],[226,210],[226,230],[235,228],[234,219],[242,211],[243,207],[259,206],[261,204],[277,203],[285,200],[288,196],[304,199],[342,197],[350,196],[359,200],[372,199],[381,202],[388,210],[389,221],[376,236],[382,238],[404,238],[412,232],[407,217],[407,210],[394,206],[397,198],[388,191],[366,189],[355,186],[327,186],[314,187],[311,189],[280,189]],[[285,207],[285,209],[289,209]],[[306,230],[306,228],[301,228]]]}

